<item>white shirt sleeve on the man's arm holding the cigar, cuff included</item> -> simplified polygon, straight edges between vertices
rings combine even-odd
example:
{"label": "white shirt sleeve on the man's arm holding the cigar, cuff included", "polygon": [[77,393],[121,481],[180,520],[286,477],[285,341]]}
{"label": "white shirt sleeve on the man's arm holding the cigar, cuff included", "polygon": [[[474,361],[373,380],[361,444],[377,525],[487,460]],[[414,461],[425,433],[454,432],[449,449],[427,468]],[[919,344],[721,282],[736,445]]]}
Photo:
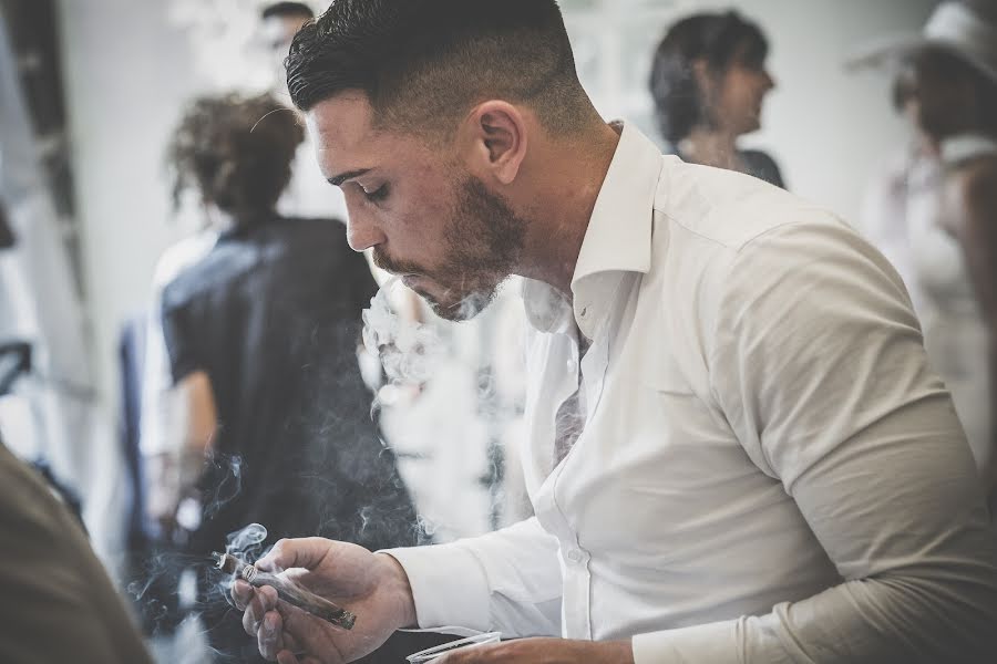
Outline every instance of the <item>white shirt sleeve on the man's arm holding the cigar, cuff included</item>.
{"label": "white shirt sleeve on the man's arm holding the cigar, cuff included", "polygon": [[476,538],[389,549],[404,568],[422,629],[461,625],[503,637],[561,635],[557,541],[535,518]]}

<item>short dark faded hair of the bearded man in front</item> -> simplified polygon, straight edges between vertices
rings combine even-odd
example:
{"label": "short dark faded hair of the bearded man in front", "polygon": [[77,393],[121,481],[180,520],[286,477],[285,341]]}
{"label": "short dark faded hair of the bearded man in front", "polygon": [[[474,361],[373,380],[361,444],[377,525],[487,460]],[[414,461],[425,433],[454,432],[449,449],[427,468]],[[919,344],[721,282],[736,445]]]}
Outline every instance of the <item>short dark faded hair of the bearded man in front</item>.
{"label": "short dark faded hair of the bearded man in front", "polygon": [[443,129],[487,98],[528,104],[558,134],[592,113],[555,0],[335,0],[286,65],[301,111],[360,90],[400,131]]}

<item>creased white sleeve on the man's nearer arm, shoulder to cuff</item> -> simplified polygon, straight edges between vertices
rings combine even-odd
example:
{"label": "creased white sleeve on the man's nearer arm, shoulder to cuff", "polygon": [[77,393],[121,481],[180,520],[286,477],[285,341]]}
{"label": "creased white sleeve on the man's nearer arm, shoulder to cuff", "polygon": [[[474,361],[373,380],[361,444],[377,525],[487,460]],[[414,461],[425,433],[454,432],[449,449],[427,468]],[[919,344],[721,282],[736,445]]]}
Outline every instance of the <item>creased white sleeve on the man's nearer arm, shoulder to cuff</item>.
{"label": "creased white sleeve on the man's nearer arm, shoulder to cuff", "polygon": [[828,220],[754,239],[723,283],[716,398],[843,582],[638,635],[636,663],[997,662],[997,538],[896,272]]}

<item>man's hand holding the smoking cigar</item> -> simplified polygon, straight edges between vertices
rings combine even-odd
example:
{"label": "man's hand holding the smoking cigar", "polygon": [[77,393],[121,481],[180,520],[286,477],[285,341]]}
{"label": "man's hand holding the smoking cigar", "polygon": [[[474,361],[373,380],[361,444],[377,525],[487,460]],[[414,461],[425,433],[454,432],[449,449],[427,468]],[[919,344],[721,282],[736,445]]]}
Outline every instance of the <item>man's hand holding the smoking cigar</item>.
{"label": "man's hand holding the smoking cigar", "polygon": [[281,572],[302,588],[357,614],[346,631],[278,602],[273,588],[236,581],[232,595],[245,609],[243,627],[260,654],[281,663],[343,664],[372,652],[401,627],[415,624],[404,570],[392,557],[321,538],[280,540],[256,566]]}

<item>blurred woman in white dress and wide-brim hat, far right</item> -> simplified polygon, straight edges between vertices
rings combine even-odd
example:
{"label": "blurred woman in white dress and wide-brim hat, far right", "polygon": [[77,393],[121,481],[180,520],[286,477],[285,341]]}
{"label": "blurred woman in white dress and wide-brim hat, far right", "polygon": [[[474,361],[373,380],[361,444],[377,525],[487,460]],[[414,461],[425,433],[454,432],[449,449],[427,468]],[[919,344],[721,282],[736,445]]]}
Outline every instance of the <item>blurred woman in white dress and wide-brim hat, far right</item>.
{"label": "blurred woman in white dress and wide-brim hat, far right", "polygon": [[900,64],[914,144],[870,188],[863,227],[901,272],[997,509],[997,6],[944,2],[919,37],[855,58]]}

